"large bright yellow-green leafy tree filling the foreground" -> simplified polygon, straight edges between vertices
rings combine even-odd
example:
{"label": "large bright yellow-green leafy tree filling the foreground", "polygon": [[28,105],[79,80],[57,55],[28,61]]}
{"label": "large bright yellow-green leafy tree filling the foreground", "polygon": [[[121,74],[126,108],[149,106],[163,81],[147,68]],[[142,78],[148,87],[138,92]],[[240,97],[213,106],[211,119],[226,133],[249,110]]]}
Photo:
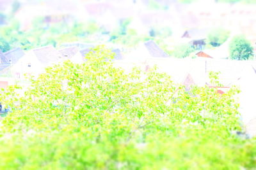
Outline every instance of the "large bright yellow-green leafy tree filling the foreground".
{"label": "large bright yellow-green leafy tree filling the foreground", "polygon": [[22,92],[0,94],[0,169],[246,169],[255,139],[241,131],[237,90],[186,92],[170,76],[113,67],[94,48],[83,64],[48,67]]}

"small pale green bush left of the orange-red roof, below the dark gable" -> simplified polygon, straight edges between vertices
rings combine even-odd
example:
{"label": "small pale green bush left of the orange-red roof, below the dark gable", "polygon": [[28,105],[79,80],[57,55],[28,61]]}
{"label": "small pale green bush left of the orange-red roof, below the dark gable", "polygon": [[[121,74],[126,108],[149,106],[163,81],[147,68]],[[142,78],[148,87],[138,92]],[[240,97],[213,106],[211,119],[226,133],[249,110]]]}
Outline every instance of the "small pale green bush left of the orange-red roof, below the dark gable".
{"label": "small pale green bush left of the orange-red roof, below the dark gable", "polygon": [[172,55],[177,58],[185,58],[188,57],[190,53],[194,52],[195,49],[189,45],[189,44],[180,44],[178,46],[175,46]]}

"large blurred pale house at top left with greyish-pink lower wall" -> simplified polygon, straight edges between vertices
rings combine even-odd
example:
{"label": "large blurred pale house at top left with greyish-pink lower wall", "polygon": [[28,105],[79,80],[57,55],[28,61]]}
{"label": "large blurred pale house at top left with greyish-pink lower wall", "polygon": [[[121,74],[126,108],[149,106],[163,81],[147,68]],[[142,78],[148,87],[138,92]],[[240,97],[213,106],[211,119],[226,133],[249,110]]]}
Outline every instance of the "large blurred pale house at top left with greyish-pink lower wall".
{"label": "large blurred pale house at top left with greyish-pink lower wall", "polygon": [[24,2],[15,13],[15,18],[19,20],[22,30],[30,29],[36,18],[43,18],[44,23],[42,24],[45,24],[45,26],[56,22],[68,24],[74,20],[75,14],[80,14],[79,4],[68,0],[63,0],[61,3],[58,0],[33,3]]}

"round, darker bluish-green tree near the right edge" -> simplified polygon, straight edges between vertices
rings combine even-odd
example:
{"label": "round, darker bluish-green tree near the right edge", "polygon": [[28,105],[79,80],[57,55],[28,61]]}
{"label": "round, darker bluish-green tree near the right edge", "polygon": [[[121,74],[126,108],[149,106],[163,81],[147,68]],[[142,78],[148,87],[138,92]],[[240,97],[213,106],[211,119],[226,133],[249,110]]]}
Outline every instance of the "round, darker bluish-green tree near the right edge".
{"label": "round, darker bluish-green tree near the right edge", "polygon": [[248,60],[253,55],[253,47],[244,36],[235,36],[229,44],[230,59]]}

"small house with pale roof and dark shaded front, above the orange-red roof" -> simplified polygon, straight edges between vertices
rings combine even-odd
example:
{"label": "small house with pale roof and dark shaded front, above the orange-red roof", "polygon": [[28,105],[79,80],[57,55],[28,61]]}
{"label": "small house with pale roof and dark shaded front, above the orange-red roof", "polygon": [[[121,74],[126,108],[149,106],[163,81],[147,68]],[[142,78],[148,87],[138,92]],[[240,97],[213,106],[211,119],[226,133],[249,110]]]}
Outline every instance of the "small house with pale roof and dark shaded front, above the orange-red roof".
{"label": "small house with pale roof and dark shaded front, above the orange-red roof", "polygon": [[202,50],[206,44],[208,32],[209,29],[189,29],[183,33],[181,38],[186,38],[195,49]]}

